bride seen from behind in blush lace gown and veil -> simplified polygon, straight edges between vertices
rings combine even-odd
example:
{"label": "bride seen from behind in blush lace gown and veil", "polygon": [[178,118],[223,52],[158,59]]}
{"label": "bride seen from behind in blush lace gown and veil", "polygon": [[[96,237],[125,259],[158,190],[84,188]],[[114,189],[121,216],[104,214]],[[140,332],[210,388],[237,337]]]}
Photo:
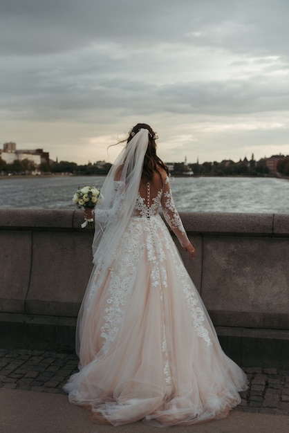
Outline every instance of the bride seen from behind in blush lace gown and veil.
{"label": "bride seen from behind in blush lace gown and veil", "polygon": [[80,371],[64,387],[71,403],[112,425],[223,418],[247,387],[158,214],[161,206],[194,259],[156,138],[149,125],[133,127],[104,181],[104,201],[95,210],[95,266],[77,320]]}

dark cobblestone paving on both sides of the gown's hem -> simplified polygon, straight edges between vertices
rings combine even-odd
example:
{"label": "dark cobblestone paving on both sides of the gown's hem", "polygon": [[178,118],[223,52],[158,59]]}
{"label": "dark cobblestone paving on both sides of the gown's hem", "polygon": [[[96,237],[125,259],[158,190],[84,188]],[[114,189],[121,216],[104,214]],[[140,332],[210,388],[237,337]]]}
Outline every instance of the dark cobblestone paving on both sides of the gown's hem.
{"label": "dark cobblestone paving on both sides of the gown's hem", "polygon": [[[64,394],[62,386],[77,371],[77,356],[38,350],[0,349],[0,388]],[[250,386],[235,410],[289,414],[289,370],[247,367]]]}

